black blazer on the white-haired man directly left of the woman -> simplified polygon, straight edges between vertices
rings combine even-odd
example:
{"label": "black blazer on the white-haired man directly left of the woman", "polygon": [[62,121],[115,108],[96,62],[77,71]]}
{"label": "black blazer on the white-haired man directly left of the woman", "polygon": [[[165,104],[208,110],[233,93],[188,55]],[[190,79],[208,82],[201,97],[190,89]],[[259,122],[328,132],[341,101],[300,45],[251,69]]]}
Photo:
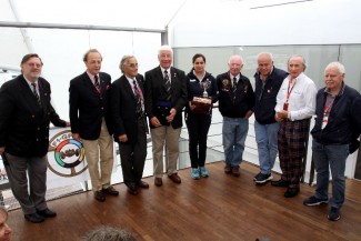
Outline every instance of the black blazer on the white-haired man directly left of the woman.
{"label": "black blazer on the white-haired man directly left of the woman", "polygon": [[[171,103],[177,110],[177,114],[171,122],[174,129],[182,127],[182,109],[188,102],[187,99],[187,79],[182,70],[170,68],[171,77]],[[146,72],[146,112],[149,120],[154,117],[157,101],[167,99],[166,82],[160,67]],[[150,124],[150,128],[154,128]]]}

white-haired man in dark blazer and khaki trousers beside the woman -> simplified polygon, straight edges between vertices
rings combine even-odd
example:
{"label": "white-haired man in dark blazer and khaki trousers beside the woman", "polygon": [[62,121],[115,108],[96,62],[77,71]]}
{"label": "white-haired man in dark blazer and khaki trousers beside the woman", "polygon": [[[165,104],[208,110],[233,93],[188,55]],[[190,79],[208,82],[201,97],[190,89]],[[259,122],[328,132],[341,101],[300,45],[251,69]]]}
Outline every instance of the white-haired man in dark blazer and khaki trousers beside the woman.
{"label": "white-haired man in dark blazer and khaki trousers beside the woman", "polygon": [[158,53],[160,66],[146,72],[146,112],[153,144],[154,184],[162,185],[163,149],[167,147],[168,177],[181,183],[177,173],[182,109],[187,104],[185,73],[171,67],[173,51],[162,46]]}

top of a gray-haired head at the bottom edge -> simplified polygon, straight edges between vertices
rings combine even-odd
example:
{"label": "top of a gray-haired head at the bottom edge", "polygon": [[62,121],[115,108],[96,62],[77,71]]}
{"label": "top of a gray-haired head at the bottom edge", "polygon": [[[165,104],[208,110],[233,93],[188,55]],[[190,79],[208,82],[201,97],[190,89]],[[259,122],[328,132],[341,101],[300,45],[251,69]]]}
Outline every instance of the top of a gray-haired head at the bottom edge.
{"label": "top of a gray-haired head at the bottom edge", "polygon": [[90,231],[83,241],[137,241],[133,234],[124,229],[116,229],[112,227],[102,225],[93,231]]}

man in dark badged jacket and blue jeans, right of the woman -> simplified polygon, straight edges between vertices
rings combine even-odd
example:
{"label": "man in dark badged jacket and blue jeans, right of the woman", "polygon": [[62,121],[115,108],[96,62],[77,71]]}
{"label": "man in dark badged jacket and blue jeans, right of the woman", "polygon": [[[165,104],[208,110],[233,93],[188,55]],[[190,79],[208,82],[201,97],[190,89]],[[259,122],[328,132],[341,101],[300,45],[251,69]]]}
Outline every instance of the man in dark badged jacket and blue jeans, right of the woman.
{"label": "man in dark badged jacket and blue jeans, right of the woman", "polygon": [[223,117],[224,172],[239,177],[254,92],[250,80],[241,73],[243,59],[240,56],[232,56],[228,67],[228,72],[217,77],[219,111]]}

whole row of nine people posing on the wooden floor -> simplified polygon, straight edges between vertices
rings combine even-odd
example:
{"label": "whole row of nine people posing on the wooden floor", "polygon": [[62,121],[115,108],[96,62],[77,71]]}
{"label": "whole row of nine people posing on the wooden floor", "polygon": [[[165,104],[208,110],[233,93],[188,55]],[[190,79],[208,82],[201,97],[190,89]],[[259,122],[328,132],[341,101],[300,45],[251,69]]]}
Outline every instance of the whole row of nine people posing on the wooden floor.
{"label": "whole row of nine people posing on the wooden floor", "polygon": [[[271,53],[262,52],[258,56],[253,91],[251,81],[241,73],[243,59],[240,56],[231,56],[229,70],[215,78],[205,71],[203,54],[194,54],[188,74],[172,67],[172,49],[162,46],[158,52],[159,66],[143,77],[138,73],[137,58],[124,56],[119,66],[122,76],[111,82],[111,77],[101,72],[101,53],[90,49],[83,57],[86,71],[70,80],[68,122],[61,120],[51,106],[50,84],[40,77],[43,64],[40,57],[36,53],[23,57],[21,74],[0,89],[0,154],[11,190],[27,220],[37,223],[57,215],[44,198],[50,122],[71,127],[72,138],[83,144],[94,199],[103,202],[107,195],[119,195],[111,185],[113,140],[119,144],[128,192],[136,195],[140,189],[149,188],[142,181],[149,131],[154,185],[163,184],[164,170],[172,182],[181,183],[177,162],[184,108],[191,177],[194,180],[209,177],[204,163],[214,102],[219,103],[223,117],[224,172],[240,175],[249,118],[254,113],[260,161],[260,173],[254,182],[262,184],[272,180],[271,170],[279,153],[282,175],[271,184],[287,187],[285,198],[300,192],[304,143],[310,119],[315,114],[311,133],[318,189],[304,204],[329,201],[330,165],[333,192],[329,219],[340,218],[348,148],[351,140],[360,135],[361,127],[358,108],[361,97],[344,83],[341,63],[332,62],[325,68],[325,88],[317,92],[314,82],[304,74],[303,57],[292,56],[285,72],[273,66]],[[205,99],[210,104],[199,111],[195,98]],[[204,108],[208,109],[204,111]]]}

